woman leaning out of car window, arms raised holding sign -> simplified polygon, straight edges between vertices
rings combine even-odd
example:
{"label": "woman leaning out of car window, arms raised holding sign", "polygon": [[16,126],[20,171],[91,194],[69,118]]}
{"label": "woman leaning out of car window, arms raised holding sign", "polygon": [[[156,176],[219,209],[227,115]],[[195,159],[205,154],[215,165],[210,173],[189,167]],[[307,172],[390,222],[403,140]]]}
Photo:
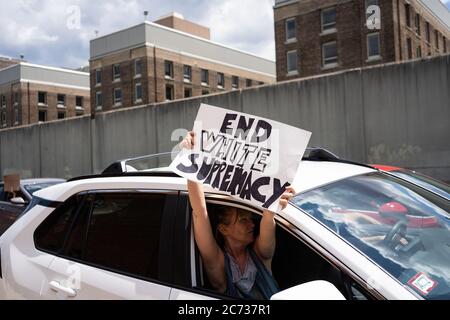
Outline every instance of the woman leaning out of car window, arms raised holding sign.
{"label": "woman leaning out of car window, arms raised holding sign", "polygon": [[[195,135],[189,132],[181,147],[192,149],[194,143]],[[271,267],[275,252],[274,214],[264,211],[260,232],[255,239],[251,213],[232,207],[224,208],[217,213],[216,239],[202,184],[188,180],[188,191],[193,209],[195,241],[213,288],[239,298],[270,299],[278,291]],[[282,209],[294,194],[292,187],[286,189],[280,199]]]}

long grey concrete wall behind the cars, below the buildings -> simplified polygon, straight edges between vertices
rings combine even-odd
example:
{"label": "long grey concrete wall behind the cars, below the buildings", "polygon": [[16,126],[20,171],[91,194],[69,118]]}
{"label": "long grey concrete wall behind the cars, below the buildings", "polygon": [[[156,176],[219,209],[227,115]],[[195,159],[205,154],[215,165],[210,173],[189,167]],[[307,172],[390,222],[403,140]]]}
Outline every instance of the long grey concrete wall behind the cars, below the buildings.
{"label": "long grey concrete wall behind the cars, below the buildings", "polygon": [[348,159],[450,181],[449,89],[450,56],[442,56],[7,129],[0,169],[70,178],[168,152],[204,102],[312,131],[310,146]]}

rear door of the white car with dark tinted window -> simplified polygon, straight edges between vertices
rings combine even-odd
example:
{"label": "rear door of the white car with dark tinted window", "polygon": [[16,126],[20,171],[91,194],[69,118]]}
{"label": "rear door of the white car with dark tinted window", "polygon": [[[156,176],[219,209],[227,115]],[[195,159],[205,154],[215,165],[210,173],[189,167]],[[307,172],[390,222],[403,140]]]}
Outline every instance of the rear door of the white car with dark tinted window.
{"label": "rear door of the white car with dark tinted window", "polygon": [[[62,250],[49,267],[42,296],[169,299],[171,274],[161,256],[167,250],[167,234],[173,232],[167,219],[177,198],[178,192],[165,190],[86,193]],[[37,230],[38,246],[45,247],[45,239],[51,237],[48,230],[52,227]]]}

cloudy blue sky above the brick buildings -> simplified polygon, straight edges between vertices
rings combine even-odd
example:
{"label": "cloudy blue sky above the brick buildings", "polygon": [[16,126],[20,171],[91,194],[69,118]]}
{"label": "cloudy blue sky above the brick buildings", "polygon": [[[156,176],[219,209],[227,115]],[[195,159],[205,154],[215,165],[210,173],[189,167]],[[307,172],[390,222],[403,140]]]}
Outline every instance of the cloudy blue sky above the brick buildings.
{"label": "cloudy blue sky above the brick buildings", "polygon": [[[450,0],[441,0],[450,9]],[[89,41],[172,11],[211,40],[275,60],[274,0],[0,0],[0,56],[54,67],[89,64]]]}

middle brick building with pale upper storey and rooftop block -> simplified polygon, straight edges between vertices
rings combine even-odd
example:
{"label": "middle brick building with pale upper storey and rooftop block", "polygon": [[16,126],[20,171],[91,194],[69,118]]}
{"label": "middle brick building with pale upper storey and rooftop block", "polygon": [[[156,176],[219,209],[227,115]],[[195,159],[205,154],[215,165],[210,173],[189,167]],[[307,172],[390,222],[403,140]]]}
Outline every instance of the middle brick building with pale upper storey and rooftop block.
{"label": "middle brick building with pale upper storey and rooftop block", "polygon": [[92,112],[275,82],[275,63],[171,14],[91,40]]}

